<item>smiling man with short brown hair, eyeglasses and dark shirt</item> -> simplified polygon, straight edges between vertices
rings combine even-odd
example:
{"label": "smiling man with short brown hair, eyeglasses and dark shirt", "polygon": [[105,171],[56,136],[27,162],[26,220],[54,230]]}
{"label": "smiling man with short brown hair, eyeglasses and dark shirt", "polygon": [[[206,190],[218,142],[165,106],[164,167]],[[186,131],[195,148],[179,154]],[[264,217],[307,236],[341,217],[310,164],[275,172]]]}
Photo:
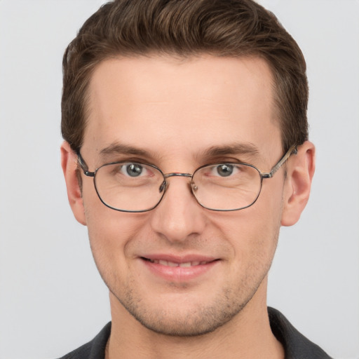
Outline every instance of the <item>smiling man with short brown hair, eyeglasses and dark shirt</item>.
{"label": "smiling man with short brown hair, eyeglasses and dark shirt", "polygon": [[114,1],[64,56],[62,168],[111,318],[64,358],[329,358],[266,306],[309,198],[301,50],[250,0]]}

